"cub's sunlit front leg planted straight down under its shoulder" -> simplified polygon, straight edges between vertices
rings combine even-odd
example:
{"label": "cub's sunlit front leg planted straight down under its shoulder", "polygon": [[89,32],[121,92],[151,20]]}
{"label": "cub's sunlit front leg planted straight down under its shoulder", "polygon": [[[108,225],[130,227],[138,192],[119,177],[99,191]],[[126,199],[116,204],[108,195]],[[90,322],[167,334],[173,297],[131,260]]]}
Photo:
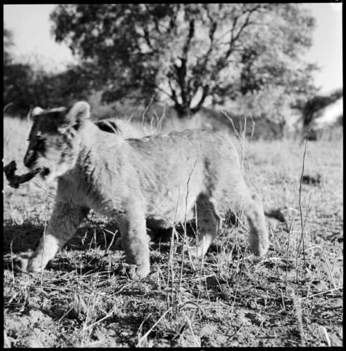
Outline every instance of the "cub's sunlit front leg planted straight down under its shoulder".
{"label": "cub's sunlit front leg planted straight down under its shoulder", "polygon": [[149,244],[145,215],[140,202],[130,201],[125,214],[116,218],[120,227],[125,267],[130,278],[145,278],[150,272]]}

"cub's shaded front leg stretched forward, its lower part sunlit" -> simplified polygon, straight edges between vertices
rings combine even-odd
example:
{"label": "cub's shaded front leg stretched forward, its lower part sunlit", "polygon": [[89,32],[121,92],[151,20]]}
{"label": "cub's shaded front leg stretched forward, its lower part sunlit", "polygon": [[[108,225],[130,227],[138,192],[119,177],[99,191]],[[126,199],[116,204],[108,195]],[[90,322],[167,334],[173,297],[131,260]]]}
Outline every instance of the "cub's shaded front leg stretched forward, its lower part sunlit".
{"label": "cub's shaded front leg stretched forward, its lower part sunlit", "polygon": [[78,225],[89,209],[71,202],[57,201],[48,222],[46,233],[32,255],[21,254],[13,260],[14,268],[21,272],[40,272],[60,249],[75,234]]}

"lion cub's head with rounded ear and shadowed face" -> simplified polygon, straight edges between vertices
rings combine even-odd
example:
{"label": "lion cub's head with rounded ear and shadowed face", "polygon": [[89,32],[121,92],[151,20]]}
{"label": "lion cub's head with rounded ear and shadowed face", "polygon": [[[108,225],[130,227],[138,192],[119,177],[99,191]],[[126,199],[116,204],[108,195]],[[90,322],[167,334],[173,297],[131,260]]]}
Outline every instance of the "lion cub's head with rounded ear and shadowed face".
{"label": "lion cub's head with rounded ear and shadowed face", "polygon": [[24,164],[42,178],[53,180],[74,167],[80,152],[79,131],[90,117],[90,106],[80,101],[69,111],[35,107],[31,117],[33,127]]}

